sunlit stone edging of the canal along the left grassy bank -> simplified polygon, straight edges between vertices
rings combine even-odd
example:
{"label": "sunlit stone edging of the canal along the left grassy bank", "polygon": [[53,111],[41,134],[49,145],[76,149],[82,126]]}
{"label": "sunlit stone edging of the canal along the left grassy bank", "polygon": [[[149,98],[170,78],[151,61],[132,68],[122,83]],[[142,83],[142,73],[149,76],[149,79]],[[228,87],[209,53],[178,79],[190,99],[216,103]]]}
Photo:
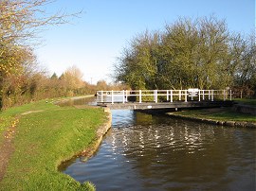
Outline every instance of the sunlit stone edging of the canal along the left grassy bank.
{"label": "sunlit stone edging of the canal along the left grassy bank", "polygon": [[103,136],[111,128],[112,113],[111,113],[109,108],[104,108],[104,113],[107,114],[107,121],[103,125],[101,125],[101,127],[97,130],[97,137],[96,137],[96,140],[94,141],[94,143],[92,144],[92,146],[82,150],[82,152],[80,153],[81,156],[85,157],[85,159],[83,159],[83,161],[86,161],[87,159],[89,159],[95,153],[95,151],[101,145],[101,141],[102,141]]}

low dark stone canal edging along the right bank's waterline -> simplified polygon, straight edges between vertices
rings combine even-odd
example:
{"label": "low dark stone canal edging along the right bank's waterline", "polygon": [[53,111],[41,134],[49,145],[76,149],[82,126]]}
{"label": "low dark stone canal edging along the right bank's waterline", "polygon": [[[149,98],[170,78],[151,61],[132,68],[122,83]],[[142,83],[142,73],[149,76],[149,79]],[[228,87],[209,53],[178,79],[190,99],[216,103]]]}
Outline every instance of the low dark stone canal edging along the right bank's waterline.
{"label": "low dark stone canal edging along the right bank's waterline", "polygon": [[177,118],[188,119],[188,120],[208,123],[212,125],[256,129],[256,123],[247,122],[247,121],[219,121],[219,120],[213,120],[213,119],[186,116],[186,115],[177,114],[177,113],[166,113],[166,114],[177,117]]}

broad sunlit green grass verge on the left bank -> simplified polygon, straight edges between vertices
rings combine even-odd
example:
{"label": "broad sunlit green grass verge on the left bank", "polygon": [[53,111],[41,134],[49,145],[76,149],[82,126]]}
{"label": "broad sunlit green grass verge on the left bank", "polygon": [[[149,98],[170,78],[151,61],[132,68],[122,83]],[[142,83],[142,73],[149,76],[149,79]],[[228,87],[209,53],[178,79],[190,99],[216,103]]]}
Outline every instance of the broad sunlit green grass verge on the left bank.
{"label": "broad sunlit green grass verge on the left bank", "polygon": [[0,190],[93,189],[88,182],[81,184],[58,172],[57,167],[94,141],[96,129],[106,120],[101,109],[61,108],[39,101],[1,113],[0,133],[17,116],[15,151]]}

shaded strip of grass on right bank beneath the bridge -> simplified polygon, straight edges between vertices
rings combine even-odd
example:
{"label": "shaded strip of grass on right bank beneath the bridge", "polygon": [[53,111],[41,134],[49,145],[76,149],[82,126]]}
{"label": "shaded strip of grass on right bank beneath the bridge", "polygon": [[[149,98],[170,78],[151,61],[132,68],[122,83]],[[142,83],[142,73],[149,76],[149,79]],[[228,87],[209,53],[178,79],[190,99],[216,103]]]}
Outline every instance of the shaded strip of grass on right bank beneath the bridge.
{"label": "shaded strip of grass on right bank beneath the bridge", "polygon": [[256,117],[254,115],[245,113],[235,113],[231,111],[230,108],[190,110],[177,112],[174,114],[202,119],[212,119],[218,121],[244,121],[253,123],[256,122]]}

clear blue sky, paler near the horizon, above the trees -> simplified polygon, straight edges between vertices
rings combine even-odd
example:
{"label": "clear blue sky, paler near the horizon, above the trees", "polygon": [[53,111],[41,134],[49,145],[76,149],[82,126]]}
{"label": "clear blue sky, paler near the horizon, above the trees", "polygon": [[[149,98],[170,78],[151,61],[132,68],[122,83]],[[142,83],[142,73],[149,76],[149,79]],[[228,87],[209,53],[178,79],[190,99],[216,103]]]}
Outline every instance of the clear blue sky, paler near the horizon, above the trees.
{"label": "clear blue sky, paler near the horizon, above the trees", "polygon": [[49,14],[82,14],[39,34],[40,65],[59,77],[75,65],[83,80],[93,84],[112,82],[114,64],[134,37],[146,30],[162,31],[180,17],[214,15],[225,19],[231,32],[255,31],[255,0],[56,0],[45,9]]}

